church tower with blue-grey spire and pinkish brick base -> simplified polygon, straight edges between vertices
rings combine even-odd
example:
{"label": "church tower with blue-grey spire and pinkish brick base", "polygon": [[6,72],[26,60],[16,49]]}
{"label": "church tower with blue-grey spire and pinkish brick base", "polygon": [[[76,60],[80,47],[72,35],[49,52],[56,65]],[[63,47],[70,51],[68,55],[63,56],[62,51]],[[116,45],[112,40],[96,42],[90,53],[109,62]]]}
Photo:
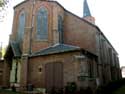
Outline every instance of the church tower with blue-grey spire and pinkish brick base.
{"label": "church tower with blue-grey spire and pinkish brick base", "polygon": [[83,3],[83,19],[87,20],[92,24],[95,24],[95,18],[91,16],[87,0],[84,0]]}

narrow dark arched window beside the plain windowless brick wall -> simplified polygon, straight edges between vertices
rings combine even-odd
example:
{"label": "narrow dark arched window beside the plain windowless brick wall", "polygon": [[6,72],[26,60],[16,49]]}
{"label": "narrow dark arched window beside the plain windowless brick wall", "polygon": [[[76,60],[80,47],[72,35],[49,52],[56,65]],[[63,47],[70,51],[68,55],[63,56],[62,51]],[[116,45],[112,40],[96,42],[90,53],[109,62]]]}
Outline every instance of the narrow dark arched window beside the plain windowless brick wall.
{"label": "narrow dark arched window beside the plain windowless brick wall", "polygon": [[63,43],[63,19],[58,16],[58,32],[59,32],[59,43]]}

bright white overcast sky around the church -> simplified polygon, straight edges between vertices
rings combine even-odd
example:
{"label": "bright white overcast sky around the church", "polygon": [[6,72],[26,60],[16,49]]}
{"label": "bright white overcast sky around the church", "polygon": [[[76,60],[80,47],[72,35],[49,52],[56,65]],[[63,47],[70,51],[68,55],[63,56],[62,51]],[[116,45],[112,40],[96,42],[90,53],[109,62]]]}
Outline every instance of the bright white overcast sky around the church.
{"label": "bright white overcast sky around the church", "polygon": [[[0,42],[8,43],[12,30],[13,6],[23,0],[11,0],[7,16],[0,22]],[[56,0],[67,10],[82,17],[83,0]],[[106,35],[119,53],[120,64],[125,66],[125,0],[88,0],[90,11],[96,19],[96,25]]]}

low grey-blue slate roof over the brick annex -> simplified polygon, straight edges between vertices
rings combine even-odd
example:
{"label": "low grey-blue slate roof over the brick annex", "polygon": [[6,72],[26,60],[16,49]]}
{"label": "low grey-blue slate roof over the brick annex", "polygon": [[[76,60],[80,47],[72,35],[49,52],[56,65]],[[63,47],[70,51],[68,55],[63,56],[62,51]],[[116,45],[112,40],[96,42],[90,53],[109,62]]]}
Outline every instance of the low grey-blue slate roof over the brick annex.
{"label": "low grey-blue slate roof over the brick annex", "polygon": [[50,46],[48,48],[42,49],[38,52],[34,52],[30,57],[64,53],[64,52],[77,51],[77,50],[80,50],[80,47],[67,45],[67,44],[56,44],[54,46]]}

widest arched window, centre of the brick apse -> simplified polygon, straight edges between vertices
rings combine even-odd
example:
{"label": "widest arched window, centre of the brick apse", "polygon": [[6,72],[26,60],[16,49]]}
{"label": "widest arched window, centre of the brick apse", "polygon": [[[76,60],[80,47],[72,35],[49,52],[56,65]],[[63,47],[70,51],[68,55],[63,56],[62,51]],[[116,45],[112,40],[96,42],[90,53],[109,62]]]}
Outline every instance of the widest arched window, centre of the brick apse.
{"label": "widest arched window, centre of the brick apse", "polygon": [[48,12],[42,7],[37,13],[37,39],[48,38]]}

